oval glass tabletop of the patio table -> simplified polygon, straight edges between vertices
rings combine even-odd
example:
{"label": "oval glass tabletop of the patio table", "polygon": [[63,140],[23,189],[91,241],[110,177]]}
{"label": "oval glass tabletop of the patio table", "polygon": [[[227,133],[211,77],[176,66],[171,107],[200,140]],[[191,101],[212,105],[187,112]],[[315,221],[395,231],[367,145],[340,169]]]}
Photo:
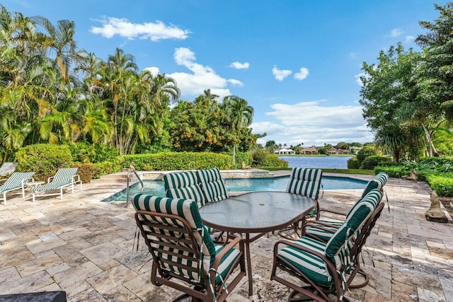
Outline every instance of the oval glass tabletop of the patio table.
{"label": "oval glass tabletop of the patio table", "polygon": [[205,204],[200,216],[207,226],[222,231],[260,233],[285,228],[315,207],[314,199],[306,196],[260,191]]}

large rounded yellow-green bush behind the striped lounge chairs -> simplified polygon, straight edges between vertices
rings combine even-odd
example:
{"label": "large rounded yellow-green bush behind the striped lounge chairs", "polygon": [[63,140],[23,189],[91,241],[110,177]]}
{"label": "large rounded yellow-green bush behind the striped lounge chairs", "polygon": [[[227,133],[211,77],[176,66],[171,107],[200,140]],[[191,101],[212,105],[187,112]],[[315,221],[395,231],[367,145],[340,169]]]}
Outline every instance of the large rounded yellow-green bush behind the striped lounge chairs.
{"label": "large rounded yellow-green bush behind the striped lounge chairs", "polygon": [[35,180],[47,180],[57,173],[58,168],[71,166],[72,156],[66,145],[35,144],[16,152],[18,171],[35,172]]}

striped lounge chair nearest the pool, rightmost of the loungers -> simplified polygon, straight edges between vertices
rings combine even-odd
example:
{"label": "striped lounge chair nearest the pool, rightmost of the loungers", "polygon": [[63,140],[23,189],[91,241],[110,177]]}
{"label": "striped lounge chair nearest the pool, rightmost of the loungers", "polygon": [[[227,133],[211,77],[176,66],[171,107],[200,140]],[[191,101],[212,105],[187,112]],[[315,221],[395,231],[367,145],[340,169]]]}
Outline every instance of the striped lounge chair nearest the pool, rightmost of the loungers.
{"label": "striped lounge chair nearest the pool, rightmost of the loungers", "polygon": [[[74,185],[77,184],[80,185],[80,190],[82,190],[82,181],[80,180],[80,176],[77,174],[77,170],[79,170],[79,168],[59,168],[54,176],[47,179],[47,184],[33,187],[33,202],[35,202],[35,197],[37,195],[39,197],[59,195],[60,199],[63,199],[63,189],[71,187],[71,191],[74,193]],[[59,190],[59,193],[38,194],[38,192],[55,190]]]}

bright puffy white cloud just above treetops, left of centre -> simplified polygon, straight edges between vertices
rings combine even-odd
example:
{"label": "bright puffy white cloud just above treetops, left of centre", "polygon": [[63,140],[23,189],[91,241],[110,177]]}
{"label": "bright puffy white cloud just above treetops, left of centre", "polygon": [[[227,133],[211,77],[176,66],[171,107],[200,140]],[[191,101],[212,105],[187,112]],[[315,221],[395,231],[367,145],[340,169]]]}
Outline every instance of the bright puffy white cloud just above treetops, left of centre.
{"label": "bright puffy white cloud just above treetops, left of centre", "polygon": [[226,88],[227,83],[239,85],[238,80],[226,80],[215,73],[210,66],[203,66],[196,63],[195,52],[192,50],[180,47],[176,48],[173,55],[176,64],[185,66],[191,73],[175,72],[168,74],[178,82],[181,95],[200,95],[205,89],[211,89],[211,93],[219,95],[223,98],[226,95],[231,95],[231,92]]}

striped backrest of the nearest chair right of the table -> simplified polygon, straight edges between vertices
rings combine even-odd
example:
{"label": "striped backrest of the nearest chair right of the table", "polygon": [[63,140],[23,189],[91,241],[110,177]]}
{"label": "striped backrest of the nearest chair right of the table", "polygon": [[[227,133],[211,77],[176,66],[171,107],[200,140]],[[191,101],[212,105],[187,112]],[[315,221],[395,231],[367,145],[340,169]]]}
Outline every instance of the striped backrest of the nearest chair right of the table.
{"label": "striped backrest of the nearest chair right of the table", "polygon": [[[362,226],[369,221],[374,209],[381,203],[382,191],[373,189],[360,199],[350,210],[349,215],[340,228],[326,243],[326,256],[336,265],[338,270],[347,267],[355,260],[357,254],[352,254],[354,238],[362,234]],[[382,210],[383,203],[379,204]],[[363,236],[363,235],[362,235]]]}

